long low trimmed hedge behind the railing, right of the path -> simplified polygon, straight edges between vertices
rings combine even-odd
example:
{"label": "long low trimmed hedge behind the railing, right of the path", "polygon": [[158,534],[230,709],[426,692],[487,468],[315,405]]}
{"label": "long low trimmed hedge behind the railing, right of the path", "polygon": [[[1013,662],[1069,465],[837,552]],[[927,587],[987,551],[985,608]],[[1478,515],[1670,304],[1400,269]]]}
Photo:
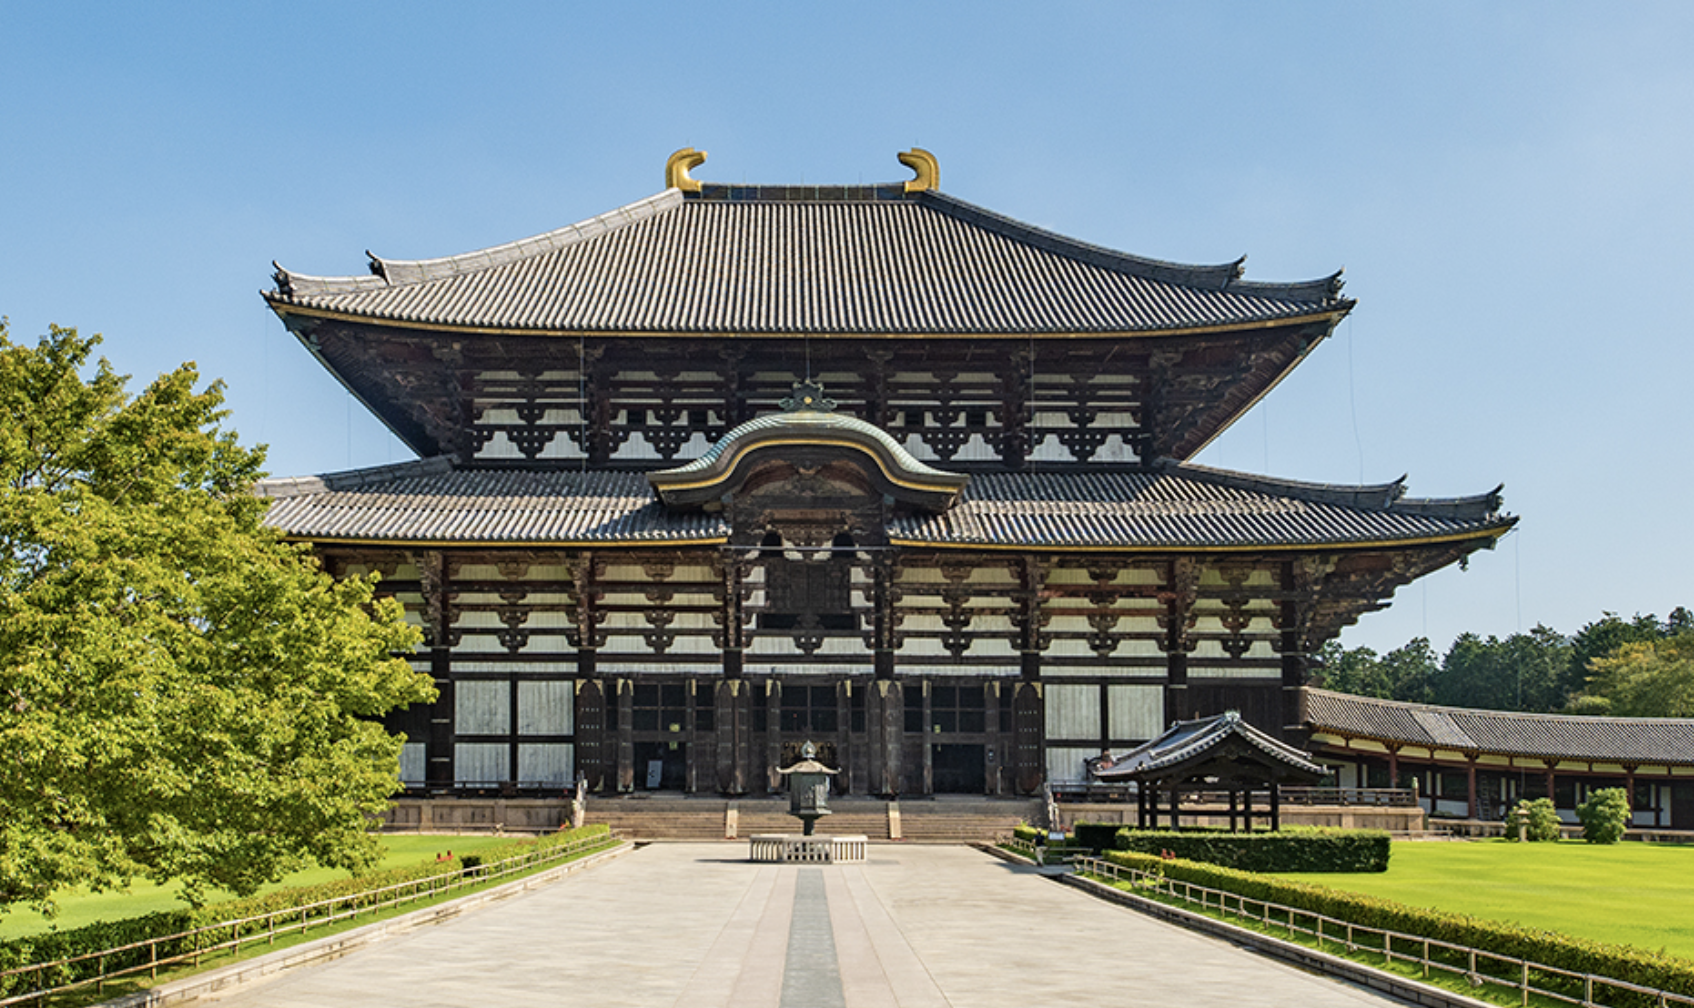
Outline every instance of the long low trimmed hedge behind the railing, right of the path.
{"label": "long low trimmed hedge behind the railing, right of the path", "polygon": [[[1123,867],[1162,872],[1171,879],[1187,881],[1213,889],[1225,889],[1228,893],[1235,893],[1237,896],[1245,896],[1247,900],[1281,903],[1284,906],[1306,910],[1309,913],[1321,913],[1325,917],[1352,922],[1355,925],[1452,942],[1455,945],[1469,945],[1472,949],[1484,949],[1496,955],[1528,959],[1530,962],[1569,969],[1572,972],[1606,976],[1645,988],[1694,996],[1694,961],[1667,955],[1664,952],[1647,952],[1631,945],[1611,945],[1557,932],[1531,930],[1514,923],[1481,920],[1464,913],[1425,910],[1420,906],[1396,903],[1392,900],[1362,896],[1359,893],[1343,893],[1340,889],[1313,886],[1309,883],[1291,883],[1248,871],[1220,867],[1215,864],[1167,861],[1159,856],[1133,850],[1111,850],[1104,857],[1106,861]],[[1438,957],[1438,950],[1431,950],[1431,957]],[[1462,967],[1465,962],[1455,959],[1452,966]],[[1482,972],[1492,972],[1494,976],[1499,976],[1513,984],[1518,983],[1516,967],[1479,959],[1477,969]],[[1581,981],[1567,983],[1570,986],[1565,993],[1581,998]],[[1536,976],[1536,984],[1548,989],[1558,989],[1560,979],[1540,974]],[[1616,1005],[1653,1003],[1645,994],[1631,996],[1626,991],[1616,991],[1614,996],[1616,1001],[1613,1003]]]}

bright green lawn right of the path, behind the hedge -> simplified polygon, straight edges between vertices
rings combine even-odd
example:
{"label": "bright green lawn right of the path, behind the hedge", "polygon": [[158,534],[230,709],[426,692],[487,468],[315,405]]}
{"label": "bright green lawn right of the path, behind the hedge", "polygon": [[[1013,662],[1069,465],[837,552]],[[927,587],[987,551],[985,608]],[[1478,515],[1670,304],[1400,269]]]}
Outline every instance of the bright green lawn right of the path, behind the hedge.
{"label": "bright green lawn right of the path, behind the hedge", "polygon": [[1281,878],[1694,959],[1694,845],[1396,842],[1386,872]]}

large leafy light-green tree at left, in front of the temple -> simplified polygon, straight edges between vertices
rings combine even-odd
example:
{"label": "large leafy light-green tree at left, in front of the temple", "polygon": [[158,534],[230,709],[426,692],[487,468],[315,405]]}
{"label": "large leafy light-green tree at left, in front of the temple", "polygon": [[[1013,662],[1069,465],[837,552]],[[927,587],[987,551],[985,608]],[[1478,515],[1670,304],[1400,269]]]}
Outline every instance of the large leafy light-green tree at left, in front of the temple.
{"label": "large leafy light-green tree at left, in front of the temple", "polygon": [[373,718],[434,695],[393,657],[417,630],[261,525],[219,383],[132,398],[81,376],[97,342],[0,320],[0,911],[369,864],[400,749]]}

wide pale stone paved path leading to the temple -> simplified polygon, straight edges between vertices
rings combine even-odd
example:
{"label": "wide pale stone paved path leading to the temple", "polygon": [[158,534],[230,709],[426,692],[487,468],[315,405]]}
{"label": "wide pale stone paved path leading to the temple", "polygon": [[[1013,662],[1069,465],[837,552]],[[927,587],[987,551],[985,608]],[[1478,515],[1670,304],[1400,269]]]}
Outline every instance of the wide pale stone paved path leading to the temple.
{"label": "wide pale stone paved path leading to the temple", "polygon": [[757,866],[656,844],[530,894],[203,1003],[998,1008],[1392,1001],[1093,900],[967,847]]}

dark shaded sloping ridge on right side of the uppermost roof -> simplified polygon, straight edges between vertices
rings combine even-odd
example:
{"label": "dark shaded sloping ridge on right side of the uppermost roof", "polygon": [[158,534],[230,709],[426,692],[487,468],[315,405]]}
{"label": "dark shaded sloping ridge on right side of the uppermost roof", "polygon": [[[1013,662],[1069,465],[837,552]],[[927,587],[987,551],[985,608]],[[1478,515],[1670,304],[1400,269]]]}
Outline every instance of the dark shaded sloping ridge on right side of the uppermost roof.
{"label": "dark shaded sloping ridge on right side of the uppermost roof", "polygon": [[1277,302],[1316,302],[1323,307],[1347,308],[1354,305],[1352,300],[1338,296],[1342,290],[1340,269],[1330,276],[1294,283],[1245,281],[1242,280],[1242,273],[1245,271],[1247,256],[1213,266],[1171,263],[1167,259],[1137,256],[1133,252],[1123,252],[1118,249],[1108,249],[1106,246],[1077,241],[1074,237],[1027,224],[1015,217],[1006,217],[1005,213],[977,207],[976,203],[969,203],[938,190],[918,193],[915,202],[966,224],[974,224],[1005,237],[1028,242],[1042,251],[1077,259],[1089,266],[1138,276],[1142,280],[1174,283],[1177,286],[1201,290],[1230,291]]}

